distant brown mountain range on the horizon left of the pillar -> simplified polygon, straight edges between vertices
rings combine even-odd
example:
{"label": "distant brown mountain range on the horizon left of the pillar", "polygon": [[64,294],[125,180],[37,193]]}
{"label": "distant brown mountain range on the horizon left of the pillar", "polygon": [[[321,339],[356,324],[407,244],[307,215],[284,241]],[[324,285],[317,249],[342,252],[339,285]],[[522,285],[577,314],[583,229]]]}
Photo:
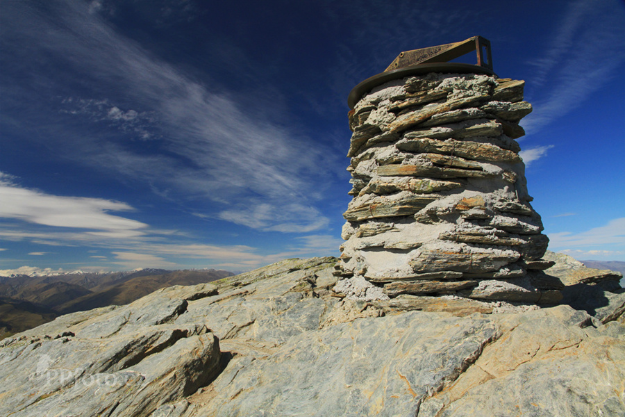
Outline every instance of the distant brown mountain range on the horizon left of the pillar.
{"label": "distant brown mountain range on the horizon left of the pillar", "polygon": [[0,277],[0,339],[63,314],[128,304],[160,288],[201,284],[232,275],[214,269],[142,269]]}

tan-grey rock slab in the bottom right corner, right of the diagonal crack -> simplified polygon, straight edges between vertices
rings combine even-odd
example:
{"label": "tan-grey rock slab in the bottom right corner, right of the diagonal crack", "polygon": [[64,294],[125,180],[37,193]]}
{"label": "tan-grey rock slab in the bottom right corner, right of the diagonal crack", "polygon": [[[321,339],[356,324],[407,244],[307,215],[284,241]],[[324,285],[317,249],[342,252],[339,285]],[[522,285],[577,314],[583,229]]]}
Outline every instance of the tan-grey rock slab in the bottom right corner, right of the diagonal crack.
{"label": "tan-grey rock slab in the bottom right corner, right of the diagonal crack", "polygon": [[504,336],[425,400],[419,417],[625,413],[622,389],[615,389],[625,377],[622,325],[581,328],[576,322],[589,317],[568,306],[492,317]]}

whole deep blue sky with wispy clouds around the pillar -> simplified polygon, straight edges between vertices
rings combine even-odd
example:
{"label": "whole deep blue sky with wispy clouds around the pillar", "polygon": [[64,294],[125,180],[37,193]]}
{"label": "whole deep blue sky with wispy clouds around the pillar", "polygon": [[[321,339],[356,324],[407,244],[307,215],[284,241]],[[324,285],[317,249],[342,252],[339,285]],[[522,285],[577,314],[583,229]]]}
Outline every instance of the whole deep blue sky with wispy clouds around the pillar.
{"label": "whole deep blue sky with wispy clouds around the pillar", "polygon": [[473,35],[550,249],[625,261],[623,1],[0,0],[0,272],[338,256],[349,91]]}

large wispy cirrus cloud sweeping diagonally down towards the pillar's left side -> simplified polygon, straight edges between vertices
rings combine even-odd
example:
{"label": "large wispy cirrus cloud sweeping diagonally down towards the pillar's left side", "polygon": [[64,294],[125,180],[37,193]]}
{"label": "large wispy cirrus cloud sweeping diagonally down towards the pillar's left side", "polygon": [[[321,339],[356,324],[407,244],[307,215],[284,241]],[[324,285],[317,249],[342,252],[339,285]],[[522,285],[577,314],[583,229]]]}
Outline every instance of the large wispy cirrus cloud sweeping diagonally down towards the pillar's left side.
{"label": "large wispy cirrus cloud sweeping diagonally down towards the pillar's left side", "polygon": [[[63,62],[88,85],[94,98],[83,94],[74,99],[78,106],[74,103],[73,110],[72,103],[65,103],[69,113],[89,118],[98,111],[101,120],[140,139],[154,136],[144,123],[148,116],[158,124],[158,145],[151,150],[64,126],[62,135],[49,135],[51,140],[63,138],[55,145],[64,158],[149,183],[172,199],[208,199],[208,214],[222,219],[230,218],[233,210],[253,218],[254,209],[245,208],[253,197],[272,215],[260,223],[239,221],[250,227],[301,231],[327,224],[321,211],[302,215],[301,208],[317,204],[322,188],[342,174],[333,150],[319,143],[311,147],[297,128],[258,116],[218,83],[194,79],[126,38],[99,15],[105,1],[49,1],[49,13],[19,2],[10,6],[7,13],[16,18],[5,19],[14,33],[7,49],[28,45],[33,54]],[[40,71],[36,76],[42,79],[52,77],[44,68],[25,70]],[[45,85],[55,83],[48,79]]]}

